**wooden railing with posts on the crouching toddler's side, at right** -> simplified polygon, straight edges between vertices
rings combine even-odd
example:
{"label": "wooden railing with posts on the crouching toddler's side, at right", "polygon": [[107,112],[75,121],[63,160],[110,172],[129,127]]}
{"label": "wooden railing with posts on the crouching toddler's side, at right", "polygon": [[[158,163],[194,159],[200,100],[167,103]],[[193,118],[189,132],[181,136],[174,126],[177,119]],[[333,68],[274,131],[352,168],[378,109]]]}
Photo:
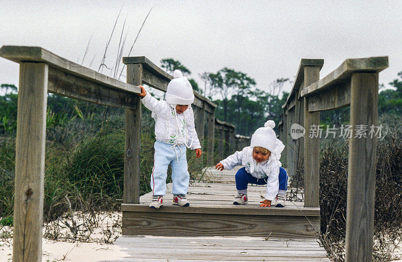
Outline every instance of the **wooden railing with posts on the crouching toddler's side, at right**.
{"label": "wooden railing with posts on the crouching toddler's side, at right", "polygon": [[[347,59],[320,80],[322,59],[302,59],[283,107],[279,138],[286,146],[290,175],[304,168],[305,206],[319,207],[320,137],[310,130],[320,125],[320,111],[350,106],[352,133],[348,139],[346,260],[372,259],[376,136],[359,136],[359,126],[378,125],[378,73],[388,67],[387,57]],[[291,138],[292,124],[302,125],[304,138]]]}

